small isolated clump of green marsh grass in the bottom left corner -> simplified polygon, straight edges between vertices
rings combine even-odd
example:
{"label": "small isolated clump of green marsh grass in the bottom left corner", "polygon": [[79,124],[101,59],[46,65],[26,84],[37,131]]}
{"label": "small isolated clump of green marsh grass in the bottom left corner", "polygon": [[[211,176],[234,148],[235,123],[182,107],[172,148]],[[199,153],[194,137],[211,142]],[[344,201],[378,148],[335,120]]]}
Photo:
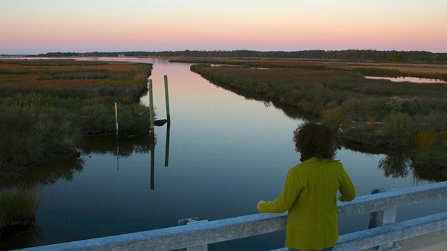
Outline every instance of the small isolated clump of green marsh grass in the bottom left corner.
{"label": "small isolated clump of green marsh grass in the bottom left corner", "polygon": [[0,232],[30,225],[41,199],[38,186],[20,183],[15,188],[0,190]]}

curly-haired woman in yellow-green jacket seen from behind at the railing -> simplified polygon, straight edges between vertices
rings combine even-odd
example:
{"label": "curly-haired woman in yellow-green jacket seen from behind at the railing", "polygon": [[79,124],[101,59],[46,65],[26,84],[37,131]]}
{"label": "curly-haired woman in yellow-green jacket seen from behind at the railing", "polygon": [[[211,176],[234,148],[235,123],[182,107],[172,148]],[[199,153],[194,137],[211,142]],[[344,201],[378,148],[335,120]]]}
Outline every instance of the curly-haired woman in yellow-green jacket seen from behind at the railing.
{"label": "curly-haired woman in yellow-green jacket seen from behind at the railing", "polygon": [[259,201],[258,211],[288,211],[289,250],[332,250],[338,238],[337,191],[340,201],[356,197],[351,178],[335,156],[336,134],[327,126],[303,123],[293,132],[299,165],[288,170],[284,188],[273,201]]}

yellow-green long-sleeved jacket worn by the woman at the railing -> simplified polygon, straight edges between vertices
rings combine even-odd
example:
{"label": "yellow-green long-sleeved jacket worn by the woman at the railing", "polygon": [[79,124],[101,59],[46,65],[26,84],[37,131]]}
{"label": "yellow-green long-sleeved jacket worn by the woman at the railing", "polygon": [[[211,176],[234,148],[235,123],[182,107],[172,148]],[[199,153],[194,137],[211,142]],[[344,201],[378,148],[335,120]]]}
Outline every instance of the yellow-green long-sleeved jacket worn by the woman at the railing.
{"label": "yellow-green long-sleeved jacket worn by the woman at the railing", "polygon": [[286,247],[321,250],[337,243],[337,191],[341,201],[356,197],[356,188],[339,160],[309,158],[288,170],[284,188],[259,211],[288,210]]}

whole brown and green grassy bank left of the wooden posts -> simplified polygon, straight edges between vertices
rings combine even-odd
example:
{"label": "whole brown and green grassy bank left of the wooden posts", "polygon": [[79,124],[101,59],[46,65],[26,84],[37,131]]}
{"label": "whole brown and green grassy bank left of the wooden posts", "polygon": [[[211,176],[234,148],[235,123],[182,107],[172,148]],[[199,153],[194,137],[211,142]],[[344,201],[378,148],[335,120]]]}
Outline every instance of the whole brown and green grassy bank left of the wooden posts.
{"label": "whole brown and green grassy bank left of the wooden posts", "polygon": [[144,132],[147,64],[0,60],[0,170],[77,156],[87,135]]}

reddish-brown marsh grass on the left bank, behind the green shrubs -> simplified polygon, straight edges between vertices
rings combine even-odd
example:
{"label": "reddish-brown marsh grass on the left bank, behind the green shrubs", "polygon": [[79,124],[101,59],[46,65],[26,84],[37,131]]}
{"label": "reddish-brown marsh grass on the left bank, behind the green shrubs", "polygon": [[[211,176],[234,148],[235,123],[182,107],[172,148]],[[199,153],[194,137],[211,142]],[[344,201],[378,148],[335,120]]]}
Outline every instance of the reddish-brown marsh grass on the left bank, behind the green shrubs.
{"label": "reddish-brown marsh grass on the left bank, behind the green shrubs", "polygon": [[147,90],[150,66],[71,60],[1,60],[0,97],[40,93],[59,98],[116,96],[137,102]]}

